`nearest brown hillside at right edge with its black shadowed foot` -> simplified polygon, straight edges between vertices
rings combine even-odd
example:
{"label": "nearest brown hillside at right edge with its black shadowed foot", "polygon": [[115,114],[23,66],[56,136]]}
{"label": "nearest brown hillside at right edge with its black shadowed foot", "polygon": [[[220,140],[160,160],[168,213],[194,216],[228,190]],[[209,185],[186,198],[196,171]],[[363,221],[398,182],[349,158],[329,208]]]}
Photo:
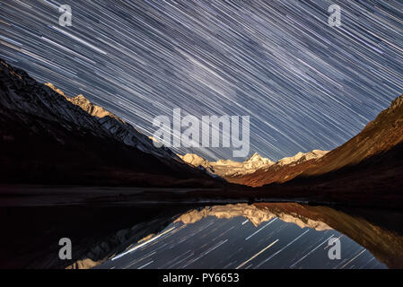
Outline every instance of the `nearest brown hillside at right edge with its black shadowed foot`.
{"label": "nearest brown hillside at right edge with its black shadowed foot", "polygon": [[259,191],[322,202],[402,208],[402,166],[403,95],[361,133],[311,162],[298,177]]}

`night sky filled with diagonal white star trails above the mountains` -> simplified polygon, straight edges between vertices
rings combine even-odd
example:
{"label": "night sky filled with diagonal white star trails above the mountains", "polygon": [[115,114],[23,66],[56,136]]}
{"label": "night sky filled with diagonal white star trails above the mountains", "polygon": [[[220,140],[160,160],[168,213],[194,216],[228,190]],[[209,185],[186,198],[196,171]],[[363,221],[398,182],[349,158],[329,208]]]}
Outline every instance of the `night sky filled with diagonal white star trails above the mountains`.
{"label": "night sky filled with diagonal white star trails above the mountains", "polygon": [[403,1],[1,0],[0,57],[146,135],[174,108],[250,116],[250,153],[275,161],[334,149],[403,92]]}

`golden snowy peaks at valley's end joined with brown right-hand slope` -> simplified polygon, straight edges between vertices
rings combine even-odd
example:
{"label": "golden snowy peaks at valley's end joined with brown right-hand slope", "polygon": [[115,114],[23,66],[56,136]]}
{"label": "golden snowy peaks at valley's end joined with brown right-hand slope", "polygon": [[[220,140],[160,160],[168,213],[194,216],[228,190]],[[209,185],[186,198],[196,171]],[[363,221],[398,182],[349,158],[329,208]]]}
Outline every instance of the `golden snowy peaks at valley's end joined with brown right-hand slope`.
{"label": "golden snowy peaks at valley's end joined with brown right-hand slope", "polygon": [[[250,187],[298,188],[335,194],[376,191],[386,196],[403,190],[403,95],[364,127],[361,133],[335,150],[299,152],[277,162],[255,153],[249,160],[209,162],[196,154],[180,156],[192,166],[227,181]],[[387,192],[388,191],[388,192]]]}

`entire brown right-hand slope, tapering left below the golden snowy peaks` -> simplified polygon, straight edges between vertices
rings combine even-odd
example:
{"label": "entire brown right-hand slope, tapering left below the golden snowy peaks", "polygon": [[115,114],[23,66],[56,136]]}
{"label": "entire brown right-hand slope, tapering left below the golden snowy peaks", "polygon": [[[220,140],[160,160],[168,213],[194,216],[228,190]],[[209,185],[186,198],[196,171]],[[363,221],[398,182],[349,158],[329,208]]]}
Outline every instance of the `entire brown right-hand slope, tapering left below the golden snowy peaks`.
{"label": "entire brown right-hand slope, tapering left below the golden snowy peaks", "polygon": [[271,165],[232,177],[231,182],[342,190],[403,190],[403,95],[351,140],[320,158]]}

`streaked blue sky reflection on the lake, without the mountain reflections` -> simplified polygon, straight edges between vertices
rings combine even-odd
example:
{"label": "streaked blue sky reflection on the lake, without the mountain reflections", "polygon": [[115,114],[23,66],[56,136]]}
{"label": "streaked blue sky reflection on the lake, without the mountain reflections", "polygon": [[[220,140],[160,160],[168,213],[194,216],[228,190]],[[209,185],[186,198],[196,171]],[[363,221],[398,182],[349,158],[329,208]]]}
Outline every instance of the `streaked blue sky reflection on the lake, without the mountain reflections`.
{"label": "streaked blue sky reflection on the lake, without the mountain reflections", "polygon": [[[384,269],[372,253],[337,230],[301,228],[277,217],[265,227],[241,216],[207,216],[173,222],[161,233],[133,245],[95,268],[101,269]],[[262,223],[263,225],[263,223]],[[256,230],[261,230],[256,234]],[[248,234],[256,235],[245,239]],[[337,238],[342,258],[330,260],[329,239]]]}

